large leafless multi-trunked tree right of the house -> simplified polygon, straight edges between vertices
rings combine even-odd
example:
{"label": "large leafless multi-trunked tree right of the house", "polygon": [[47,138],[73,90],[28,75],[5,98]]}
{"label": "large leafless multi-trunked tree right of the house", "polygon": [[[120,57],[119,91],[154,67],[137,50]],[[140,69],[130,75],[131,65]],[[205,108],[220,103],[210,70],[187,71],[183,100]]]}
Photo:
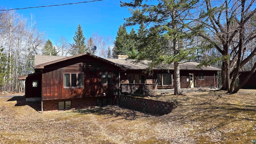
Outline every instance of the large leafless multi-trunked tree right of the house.
{"label": "large leafless multi-trunked tree right of the house", "polygon": [[[200,36],[222,54],[222,89],[230,93],[237,92],[242,86],[234,88],[238,71],[256,54],[256,29],[250,26],[250,20],[255,19],[255,2],[205,0],[206,9],[200,14],[206,31]],[[249,45],[253,49],[251,53],[248,53]],[[255,71],[255,64],[250,71],[248,78]]]}

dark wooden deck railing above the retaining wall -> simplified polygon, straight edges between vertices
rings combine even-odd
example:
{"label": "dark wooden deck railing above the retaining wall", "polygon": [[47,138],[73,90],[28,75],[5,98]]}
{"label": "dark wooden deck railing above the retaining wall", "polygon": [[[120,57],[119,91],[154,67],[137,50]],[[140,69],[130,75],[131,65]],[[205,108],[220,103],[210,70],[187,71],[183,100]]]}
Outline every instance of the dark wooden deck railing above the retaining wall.
{"label": "dark wooden deck railing above the retaining wall", "polygon": [[121,84],[121,94],[145,97],[154,93],[155,84]]}

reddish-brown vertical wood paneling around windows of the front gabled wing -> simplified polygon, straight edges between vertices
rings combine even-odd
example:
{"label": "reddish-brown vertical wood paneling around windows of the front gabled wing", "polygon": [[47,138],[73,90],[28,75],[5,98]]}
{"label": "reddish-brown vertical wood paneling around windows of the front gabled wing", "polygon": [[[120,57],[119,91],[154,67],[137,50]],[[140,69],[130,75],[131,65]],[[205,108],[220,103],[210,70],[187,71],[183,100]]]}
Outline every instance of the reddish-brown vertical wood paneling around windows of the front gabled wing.
{"label": "reddish-brown vertical wood paneling around windows of the front gabled wing", "polygon": [[[78,66],[78,65],[76,65]],[[80,65],[79,65],[80,66]],[[58,70],[48,70],[44,73],[43,87],[45,89],[45,100],[68,99],[68,98],[82,98],[88,96],[102,96],[103,92],[107,95],[118,94],[118,76],[114,74],[114,69],[100,67],[77,68],[72,67],[60,68]],[[102,85],[101,72],[113,73],[113,84]],[[118,70],[115,70],[118,72]],[[64,88],[63,77],[64,73],[84,73],[83,88]]]}

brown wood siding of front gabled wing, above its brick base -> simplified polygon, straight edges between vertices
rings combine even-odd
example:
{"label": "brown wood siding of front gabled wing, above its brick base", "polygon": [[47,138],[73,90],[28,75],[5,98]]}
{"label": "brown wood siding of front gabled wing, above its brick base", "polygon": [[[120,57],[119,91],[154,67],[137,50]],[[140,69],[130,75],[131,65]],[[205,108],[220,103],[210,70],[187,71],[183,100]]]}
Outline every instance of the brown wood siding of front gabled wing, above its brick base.
{"label": "brown wood siding of front gabled wing, above its brick base", "polygon": [[[42,100],[103,96],[103,93],[106,96],[118,95],[118,67],[108,63],[101,64],[97,61],[89,64],[78,62],[70,65],[61,63],[61,65],[44,69],[42,74]],[[105,72],[112,73],[113,84],[102,84],[102,73]],[[83,73],[83,87],[64,88],[64,73]]]}

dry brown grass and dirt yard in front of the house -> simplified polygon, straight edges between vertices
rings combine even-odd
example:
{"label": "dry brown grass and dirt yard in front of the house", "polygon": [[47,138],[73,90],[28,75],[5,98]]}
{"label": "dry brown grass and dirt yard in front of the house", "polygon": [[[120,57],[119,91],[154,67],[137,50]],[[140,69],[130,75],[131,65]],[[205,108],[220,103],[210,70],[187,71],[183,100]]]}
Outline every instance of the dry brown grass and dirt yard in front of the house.
{"label": "dry brown grass and dirt yard in front of the house", "polygon": [[256,90],[201,90],[152,99],[177,102],[164,116],[111,106],[63,112],[37,110],[24,96],[0,95],[0,144],[251,144]]}

